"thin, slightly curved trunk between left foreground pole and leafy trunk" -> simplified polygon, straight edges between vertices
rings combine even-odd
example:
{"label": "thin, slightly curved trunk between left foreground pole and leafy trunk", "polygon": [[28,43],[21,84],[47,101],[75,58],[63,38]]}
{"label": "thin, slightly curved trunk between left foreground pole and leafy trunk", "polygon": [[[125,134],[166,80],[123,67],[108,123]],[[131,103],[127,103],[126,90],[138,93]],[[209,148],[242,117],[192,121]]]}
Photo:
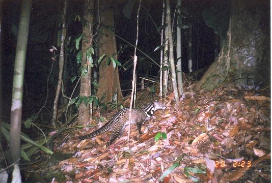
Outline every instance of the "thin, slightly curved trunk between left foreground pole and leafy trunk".
{"label": "thin, slightly curved trunk between left foreground pole and leafy trunk", "polygon": [[55,127],[58,127],[58,103],[59,103],[59,97],[62,87],[62,74],[63,74],[63,66],[64,66],[64,49],[65,49],[65,37],[66,37],[66,11],[68,7],[68,0],[64,1],[64,8],[63,8],[63,14],[62,14],[62,38],[61,38],[61,51],[60,51],[60,62],[59,62],[59,78],[58,78],[58,85],[54,100],[54,106],[53,106],[53,119],[52,119],[52,125]]}

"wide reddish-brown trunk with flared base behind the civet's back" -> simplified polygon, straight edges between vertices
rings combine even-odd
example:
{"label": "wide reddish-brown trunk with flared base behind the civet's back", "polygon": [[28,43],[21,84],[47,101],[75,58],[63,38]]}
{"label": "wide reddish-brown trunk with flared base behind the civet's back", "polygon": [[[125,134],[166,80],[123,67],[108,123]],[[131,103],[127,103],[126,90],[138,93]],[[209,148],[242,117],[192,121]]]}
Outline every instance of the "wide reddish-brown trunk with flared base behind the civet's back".
{"label": "wide reddish-brown trunk with flared base behind the civet's back", "polygon": [[[106,54],[108,56],[112,55],[117,58],[117,48],[116,40],[111,28],[114,28],[114,11],[113,11],[113,1],[100,1],[100,17],[101,31],[103,35],[99,38],[99,56]],[[106,102],[111,102],[112,97],[117,92],[117,99],[122,98],[119,73],[118,68],[113,67],[113,64],[107,65],[105,57],[99,67],[99,87],[97,96],[99,99],[105,96]]]}

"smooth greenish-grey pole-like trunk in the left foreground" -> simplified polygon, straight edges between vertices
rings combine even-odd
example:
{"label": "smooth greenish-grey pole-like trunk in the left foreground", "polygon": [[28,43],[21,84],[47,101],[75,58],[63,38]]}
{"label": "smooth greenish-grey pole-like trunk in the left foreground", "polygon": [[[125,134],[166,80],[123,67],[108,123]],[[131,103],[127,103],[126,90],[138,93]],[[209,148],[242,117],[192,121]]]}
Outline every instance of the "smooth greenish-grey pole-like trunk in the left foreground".
{"label": "smooth greenish-grey pole-like trunk in the left foreground", "polygon": [[[31,0],[23,0],[21,2],[10,114],[10,164],[20,160],[23,79],[26,48],[28,45],[31,3]],[[19,163],[20,162],[18,162],[18,164]]]}

